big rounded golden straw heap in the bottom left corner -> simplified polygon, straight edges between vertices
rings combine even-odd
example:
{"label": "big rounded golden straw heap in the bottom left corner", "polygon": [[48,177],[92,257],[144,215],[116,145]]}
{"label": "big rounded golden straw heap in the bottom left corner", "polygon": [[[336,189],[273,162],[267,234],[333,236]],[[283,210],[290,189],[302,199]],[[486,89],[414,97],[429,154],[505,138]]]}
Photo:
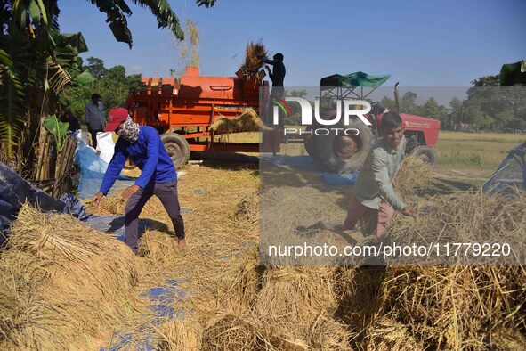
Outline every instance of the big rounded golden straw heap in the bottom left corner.
{"label": "big rounded golden straw heap in the bottom left corner", "polygon": [[0,257],[0,347],[96,348],[134,311],[136,283],[124,243],[24,205]]}

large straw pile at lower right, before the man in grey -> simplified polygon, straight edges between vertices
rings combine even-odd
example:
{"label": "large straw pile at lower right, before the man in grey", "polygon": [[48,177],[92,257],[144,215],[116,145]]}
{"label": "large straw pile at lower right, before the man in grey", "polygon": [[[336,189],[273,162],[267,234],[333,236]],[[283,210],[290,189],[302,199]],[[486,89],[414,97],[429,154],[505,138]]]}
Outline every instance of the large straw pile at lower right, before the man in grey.
{"label": "large straw pile at lower right, before the man in grey", "polygon": [[[514,200],[483,193],[439,196],[425,214],[400,218],[389,235],[397,242],[508,242],[515,257],[508,262],[514,265],[473,265],[473,259],[467,265],[460,257],[452,266],[388,266],[376,301],[380,325],[404,325],[417,344],[433,349],[484,349],[503,342],[526,347],[526,271],[518,265],[526,235],[523,194]],[[502,331],[513,340],[503,341]],[[377,334],[374,324],[369,333]]]}

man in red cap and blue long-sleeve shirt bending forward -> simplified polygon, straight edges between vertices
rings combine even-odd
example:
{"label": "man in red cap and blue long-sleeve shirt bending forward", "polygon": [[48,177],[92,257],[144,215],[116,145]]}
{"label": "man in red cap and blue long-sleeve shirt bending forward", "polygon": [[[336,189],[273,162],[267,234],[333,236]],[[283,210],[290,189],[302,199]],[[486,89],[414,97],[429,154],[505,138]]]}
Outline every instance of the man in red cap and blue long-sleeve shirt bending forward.
{"label": "man in red cap and blue long-sleeve shirt bending forward", "polygon": [[156,195],[174,224],[179,248],[185,249],[184,224],[177,196],[177,174],[174,163],[157,130],[134,123],[128,115],[128,110],[123,108],[110,110],[108,118],[109,122],[104,131],[115,131],[119,138],[115,144],[113,158],[102,180],[101,189],[93,196],[93,203],[97,204],[103,196],[108,194],[125,166],[126,159],[130,157],[134,164],[142,170],[142,173],[134,185],[127,187],[122,192],[123,200],[127,200],[125,205],[126,244],[137,252],[138,217],[146,202],[152,195]]}

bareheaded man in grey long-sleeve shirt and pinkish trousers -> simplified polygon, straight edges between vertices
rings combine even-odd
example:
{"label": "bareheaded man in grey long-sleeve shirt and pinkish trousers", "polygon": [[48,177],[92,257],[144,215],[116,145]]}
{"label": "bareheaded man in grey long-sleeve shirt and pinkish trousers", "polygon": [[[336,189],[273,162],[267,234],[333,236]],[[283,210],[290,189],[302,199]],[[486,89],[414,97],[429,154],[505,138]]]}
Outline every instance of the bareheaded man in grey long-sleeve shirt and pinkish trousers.
{"label": "bareheaded man in grey long-sleeve shirt and pinkish trousers", "polygon": [[411,216],[414,209],[406,206],[394,191],[392,182],[401,168],[406,148],[402,120],[398,113],[387,112],[382,118],[378,139],[369,151],[358,180],[352,188],[344,230],[354,230],[360,219],[376,217],[376,238],[382,239],[392,222],[394,211]]}

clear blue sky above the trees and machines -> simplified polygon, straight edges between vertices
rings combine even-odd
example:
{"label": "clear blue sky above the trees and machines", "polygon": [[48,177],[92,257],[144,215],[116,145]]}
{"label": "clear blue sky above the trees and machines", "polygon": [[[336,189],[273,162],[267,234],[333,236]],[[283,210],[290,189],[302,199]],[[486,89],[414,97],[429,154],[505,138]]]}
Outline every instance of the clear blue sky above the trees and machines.
{"label": "clear blue sky above the trees and machines", "polygon": [[[130,2],[131,3],[131,2]],[[386,86],[469,86],[503,63],[526,59],[525,0],[217,0],[198,7],[170,0],[197,24],[202,75],[233,76],[249,40],[281,52],[286,86],[319,86],[334,73],[391,74]],[[174,36],[131,5],[134,47],[118,43],[105,16],[85,0],[60,0],[62,32],[81,31],[106,67],[169,76],[182,69]]]}

